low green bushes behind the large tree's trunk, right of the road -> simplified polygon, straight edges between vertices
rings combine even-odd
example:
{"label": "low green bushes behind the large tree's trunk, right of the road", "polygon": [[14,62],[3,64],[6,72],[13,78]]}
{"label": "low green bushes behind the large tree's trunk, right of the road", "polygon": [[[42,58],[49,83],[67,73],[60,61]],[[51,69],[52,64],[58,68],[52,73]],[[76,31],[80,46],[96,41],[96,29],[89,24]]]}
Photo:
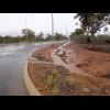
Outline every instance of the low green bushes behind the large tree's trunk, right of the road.
{"label": "low green bushes behind the large tree's trunk, right of the road", "polygon": [[110,43],[110,35],[108,33],[108,29],[105,28],[103,30],[105,34],[96,35],[96,37],[90,37],[87,34],[85,34],[85,31],[82,29],[76,29],[75,32],[72,32],[69,35],[69,38],[77,43],[96,43],[96,44],[108,44]]}

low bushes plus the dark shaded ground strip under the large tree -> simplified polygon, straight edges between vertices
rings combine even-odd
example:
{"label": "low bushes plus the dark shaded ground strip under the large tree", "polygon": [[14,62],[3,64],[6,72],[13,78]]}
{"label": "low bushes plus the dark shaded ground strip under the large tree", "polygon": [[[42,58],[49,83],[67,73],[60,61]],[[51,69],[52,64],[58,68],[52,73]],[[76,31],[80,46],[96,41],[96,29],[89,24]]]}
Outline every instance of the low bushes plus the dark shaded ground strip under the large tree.
{"label": "low bushes plus the dark shaded ground strip under the large tree", "polygon": [[84,33],[77,34],[76,32],[73,32],[69,37],[74,43],[84,44],[87,50],[110,53],[110,35],[108,34],[90,37]]}

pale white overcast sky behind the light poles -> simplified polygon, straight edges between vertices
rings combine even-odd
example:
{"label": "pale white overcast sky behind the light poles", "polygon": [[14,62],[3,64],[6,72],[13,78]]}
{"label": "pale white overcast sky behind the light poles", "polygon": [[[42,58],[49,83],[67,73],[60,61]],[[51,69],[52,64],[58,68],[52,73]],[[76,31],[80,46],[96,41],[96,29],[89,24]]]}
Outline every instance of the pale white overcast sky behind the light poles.
{"label": "pale white overcast sky behind the light poles", "polygon": [[[33,15],[31,15],[33,14]],[[54,13],[54,31],[68,35],[75,31],[76,13]],[[52,34],[52,13],[0,13],[0,35],[21,35],[22,29],[25,29],[25,18],[28,28],[37,35],[40,32]],[[65,25],[62,25],[65,24]]]}

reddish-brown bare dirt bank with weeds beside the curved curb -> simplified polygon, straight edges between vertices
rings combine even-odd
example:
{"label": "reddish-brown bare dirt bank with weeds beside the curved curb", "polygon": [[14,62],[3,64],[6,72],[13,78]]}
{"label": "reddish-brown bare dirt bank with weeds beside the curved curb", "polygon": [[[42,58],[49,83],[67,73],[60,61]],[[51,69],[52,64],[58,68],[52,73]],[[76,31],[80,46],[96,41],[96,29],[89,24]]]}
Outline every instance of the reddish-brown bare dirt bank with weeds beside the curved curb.
{"label": "reddish-brown bare dirt bank with weeds beside the curved curb", "polygon": [[[96,96],[110,95],[110,79],[100,77],[107,75],[110,67],[110,54],[88,51],[85,45],[74,43],[65,46],[61,58],[66,64],[88,72],[94,77],[70,73],[63,66],[53,64],[51,53],[59,45],[37,50],[32,56],[48,64],[30,63],[29,74],[35,87],[44,96]],[[57,54],[57,53],[56,53]],[[101,64],[102,63],[102,64]],[[107,63],[107,64],[106,64]],[[100,68],[99,68],[100,67]]]}

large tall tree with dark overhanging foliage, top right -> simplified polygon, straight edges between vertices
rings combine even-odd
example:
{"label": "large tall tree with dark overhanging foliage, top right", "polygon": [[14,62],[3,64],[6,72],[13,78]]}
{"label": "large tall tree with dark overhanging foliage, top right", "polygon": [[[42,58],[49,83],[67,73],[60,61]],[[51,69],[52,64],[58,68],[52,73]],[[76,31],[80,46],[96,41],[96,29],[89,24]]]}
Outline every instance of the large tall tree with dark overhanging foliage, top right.
{"label": "large tall tree with dark overhanging foliage, top right", "polygon": [[[97,31],[110,24],[110,13],[77,13],[74,19],[77,18],[79,18],[80,26],[84,29],[85,33],[94,37],[94,43]],[[94,48],[95,45],[92,45],[92,50]]]}

